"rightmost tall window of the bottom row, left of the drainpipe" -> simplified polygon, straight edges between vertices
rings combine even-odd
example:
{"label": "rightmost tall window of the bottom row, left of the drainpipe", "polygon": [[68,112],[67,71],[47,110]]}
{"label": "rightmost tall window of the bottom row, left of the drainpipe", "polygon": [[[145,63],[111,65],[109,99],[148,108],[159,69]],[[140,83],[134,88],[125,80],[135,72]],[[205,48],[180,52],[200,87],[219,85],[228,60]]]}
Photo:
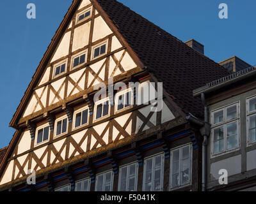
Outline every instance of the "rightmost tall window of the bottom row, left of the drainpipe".
{"label": "rightmost tall window of the bottom row, left of the drainpipe", "polygon": [[171,150],[170,189],[191,184],[191,145]]}

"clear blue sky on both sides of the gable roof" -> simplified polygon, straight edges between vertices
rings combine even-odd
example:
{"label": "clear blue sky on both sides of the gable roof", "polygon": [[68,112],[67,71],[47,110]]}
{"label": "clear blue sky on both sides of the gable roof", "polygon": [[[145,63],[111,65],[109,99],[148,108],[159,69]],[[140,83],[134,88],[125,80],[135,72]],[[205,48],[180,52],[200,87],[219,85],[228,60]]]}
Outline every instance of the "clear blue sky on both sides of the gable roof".
{"label": "clear blue sky on both sides of the gable roof", "polygon": [[[195,38],[216,62],[237,55],[256,64],[255,0],[119,1],[182,41]],[[26,18],[28,3],[35,3],[36,19]],[[71,3],[0,1],[0,148],[12,139],[15,130],[8,124]],[[228,5],[228,19],[218,18],[220,3]]]}

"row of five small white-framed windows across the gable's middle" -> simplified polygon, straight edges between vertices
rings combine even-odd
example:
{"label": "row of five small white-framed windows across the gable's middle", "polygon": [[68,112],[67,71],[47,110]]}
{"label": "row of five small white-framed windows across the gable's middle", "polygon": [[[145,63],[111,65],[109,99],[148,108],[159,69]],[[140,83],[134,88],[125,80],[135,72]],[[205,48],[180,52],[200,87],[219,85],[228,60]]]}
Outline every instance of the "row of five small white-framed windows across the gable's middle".
{"label": "row of five small white-framed windows across the gable's middle", "polygon": [[[133,105],[133,94],[131,89],[127,91],[120,92],[116,95],[116,112],[120,110],[124,110],[125,108],[131,107]],[[93,116],[93,120],[99,120],[104,117],[109,116],[110,111],[110,103],[109,99],[102,99],[95,103],[95,114]],[[74,124],[73,129],[79,128],[88,124],[89,119],[89,108],[86,106],[85,108],[81,108],[74,112]],[[55,122],[55,136],[60,136],[67,133],[68,119],[67,116],[60,117]],[[49,125],[45,124],[44,126],[39,126],[36,129],[36,144],[40,144],[42,142],[46,142],[49,140]]]}

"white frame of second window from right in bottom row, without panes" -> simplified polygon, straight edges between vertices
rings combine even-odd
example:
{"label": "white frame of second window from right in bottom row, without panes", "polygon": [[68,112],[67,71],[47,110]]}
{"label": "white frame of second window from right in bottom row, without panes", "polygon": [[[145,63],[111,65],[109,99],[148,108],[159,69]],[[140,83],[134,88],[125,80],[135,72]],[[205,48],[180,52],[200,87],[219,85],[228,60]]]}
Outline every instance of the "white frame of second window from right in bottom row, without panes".
{"label": "white frame of second window from right in bottom row, without panes", "polygon": [[[142,182],[142,191],[145,191],[145,177],[146,177],[146,161],[147,159],[153,159],[152,161],[152,185],[151,185],[151,188],[154,187],[154,172],[155,172],[155,169],[154,169],[154,166],[155,166],[155,159],[154,157],[157,157],[157,156],[161,156],[162,157],[162,163],[161,163],[161,189],[160,191],[163,191],[163,183],[164,183],[164,152],[161,152],[159,154],[154,154],[152,156],[149,156],[149,157],[145,157],[144,159],[144,164],[143,164],[143,182]],[[150,189],[150,191],[152,191],[152,189]]]}

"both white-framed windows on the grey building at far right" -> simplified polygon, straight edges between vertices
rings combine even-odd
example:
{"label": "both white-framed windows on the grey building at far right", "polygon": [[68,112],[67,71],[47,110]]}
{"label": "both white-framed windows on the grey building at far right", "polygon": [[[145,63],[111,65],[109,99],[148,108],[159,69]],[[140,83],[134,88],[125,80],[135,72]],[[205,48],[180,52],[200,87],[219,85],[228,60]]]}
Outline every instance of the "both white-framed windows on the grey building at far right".
{"label": "both white-framed windows on the grey building at far right", "polygon": [[[212,155],[239,148],[240,103],[228,105],[211,113]],[[246,99],[247,144],[256,142],[256,97]]]}

